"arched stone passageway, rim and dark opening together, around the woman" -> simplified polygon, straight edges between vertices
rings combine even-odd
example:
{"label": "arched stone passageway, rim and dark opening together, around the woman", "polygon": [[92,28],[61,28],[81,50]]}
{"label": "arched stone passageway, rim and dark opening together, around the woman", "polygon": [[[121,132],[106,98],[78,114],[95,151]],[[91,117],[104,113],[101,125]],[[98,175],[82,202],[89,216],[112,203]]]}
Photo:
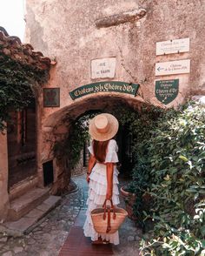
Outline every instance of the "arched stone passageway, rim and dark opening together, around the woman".
{"label": "arched stone passageway, rim and dark opening together, around the woman", "polygon": [[[119,147],[118,158],[120,161],[120,165],[117,167],[120,171],[120,177],[131,179],[132,167],[135,165],[135,158],[133,160],[131,151],[134,140],[129,127],[126,125],[126,118],[129,118],[131,112],[140,113],[143,105],[147,104],[136,100],[136,98],[126,98],[123,95],[95,95],[90,98],[83,98],[81,101],[75,101],[73,104],[52,113],[44,120],[44,127],[52,127],[47,131],[49,132],[47,136],[50,138],[50,142],[47,142],[49,144],[46,145],[46,148],[48,161],[50,160],[50,152],[53,152],[53,158],[55,159],[53,193],[67,191],[70,178],[83,174],[87,170],[90,141],[89,139],[84,141],[81,137],[79,138],[79,134],[82,134],[82,132],[76,129],[75,124],[80,118],[88,114],[96,115],[97,113],[107,112],[116,116],[120,121],[120,128],[115,138]],[[124,115],[123,121],[121,119],[122,114]],[[75,133],[76,138],[72,140]],[[81,151],[78,151],[79,144],[76,145],[76,139],[80,142]],[[71,148],[69,149],[70,145]],[[75,170],[73,163],[76,161],[76,156],[79,156],[79,161]]]}

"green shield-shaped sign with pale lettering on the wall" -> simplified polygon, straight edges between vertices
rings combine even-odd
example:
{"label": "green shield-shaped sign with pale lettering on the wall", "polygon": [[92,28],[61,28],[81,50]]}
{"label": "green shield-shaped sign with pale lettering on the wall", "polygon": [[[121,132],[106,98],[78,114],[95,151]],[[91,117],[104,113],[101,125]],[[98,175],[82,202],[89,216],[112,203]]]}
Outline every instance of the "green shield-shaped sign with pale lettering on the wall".
{"label": "green shield-shaped sign with pale lettering on the wall", "polygon": [[155,97],[162,104],[172,102],[179,92],[179,79],[155,81]]}

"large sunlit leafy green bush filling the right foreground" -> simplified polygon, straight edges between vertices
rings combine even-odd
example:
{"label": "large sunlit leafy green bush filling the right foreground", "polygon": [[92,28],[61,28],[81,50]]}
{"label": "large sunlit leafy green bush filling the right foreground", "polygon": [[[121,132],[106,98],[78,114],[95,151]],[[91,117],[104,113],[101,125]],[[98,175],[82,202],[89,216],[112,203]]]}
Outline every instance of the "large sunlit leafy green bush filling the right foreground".
{"label": "large sunlit leafy green bush filling the right foreground", "polygon": [[189,103],[181,111],[168,111],[152,135],[148,157],[155,227],[151,241],[142,242],[142,255],[202,255],[205,253],[204,107]]}

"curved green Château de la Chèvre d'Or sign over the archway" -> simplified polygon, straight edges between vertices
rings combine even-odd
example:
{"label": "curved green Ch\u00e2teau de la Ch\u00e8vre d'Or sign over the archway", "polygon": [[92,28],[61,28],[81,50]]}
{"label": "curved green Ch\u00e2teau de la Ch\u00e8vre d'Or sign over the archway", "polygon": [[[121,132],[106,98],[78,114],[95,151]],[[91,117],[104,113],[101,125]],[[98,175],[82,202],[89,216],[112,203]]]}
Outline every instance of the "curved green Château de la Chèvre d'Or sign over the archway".
{"label": "curved green Ch\u00e2teau de la Ch\u00e8vre d'Or sign over the archway", "polygon": [[136,96],[136,92],[139,89],[139,84],[129,84],[118,81],[109,81],[109,82],[98,82],[93,84],[86,84],[81,87],[76,88],[74,91],[69,92],[69,96],[72,99],[81,98],[90,93],[97,92],[122,92],[128,93]]}

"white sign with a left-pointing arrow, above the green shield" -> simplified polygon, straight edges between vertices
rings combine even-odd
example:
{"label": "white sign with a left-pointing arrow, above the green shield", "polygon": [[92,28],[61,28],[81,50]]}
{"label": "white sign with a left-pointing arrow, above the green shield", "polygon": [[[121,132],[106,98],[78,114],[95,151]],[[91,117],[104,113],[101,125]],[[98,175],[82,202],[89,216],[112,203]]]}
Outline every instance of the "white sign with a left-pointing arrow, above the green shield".
{"label": "white sign with a left-pointing arrow, above the green shield", "polygon": [[187,74],[190,72],[190,59],[175,60],[155,64],[155,76]]}

